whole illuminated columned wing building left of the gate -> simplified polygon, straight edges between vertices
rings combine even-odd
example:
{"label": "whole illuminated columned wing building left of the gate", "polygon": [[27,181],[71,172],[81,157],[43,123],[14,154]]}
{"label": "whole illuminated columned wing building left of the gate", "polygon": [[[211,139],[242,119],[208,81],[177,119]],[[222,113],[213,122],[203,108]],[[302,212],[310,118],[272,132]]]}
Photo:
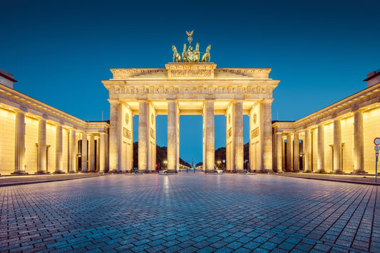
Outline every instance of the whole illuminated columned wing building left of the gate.
{"label": "whole illuminated columned wing building left of the gate", "polygon": [[80,120],[14,91],[13,76],[1,73],[1,175],[108,170],[108,123]]}

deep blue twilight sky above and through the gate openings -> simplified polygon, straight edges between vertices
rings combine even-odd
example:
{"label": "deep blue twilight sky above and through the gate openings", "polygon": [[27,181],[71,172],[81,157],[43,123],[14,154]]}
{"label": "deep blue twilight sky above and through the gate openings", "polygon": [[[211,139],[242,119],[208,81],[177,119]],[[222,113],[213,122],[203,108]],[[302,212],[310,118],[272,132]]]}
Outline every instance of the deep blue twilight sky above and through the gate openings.
{"label": "deep blue twilight sky above and through the gate openings", "polygon": [[[194,30],[218,68],[272,68],[281,80],[272,119],[278,110],[279,120],[297,120],[366,87],[380,68],[379,9],[378,0],[3,0],[0,68],[17,91],[83,120],[101,120],[103,110],[108,120],[109,69],[165,68],[171,46]],[[157,118],[161,146],[166,120]],[[180,125],[181,158],[202,160],[202,117],[181,116]],[[215,140],[225,146],[224,116],[215,116]]]}

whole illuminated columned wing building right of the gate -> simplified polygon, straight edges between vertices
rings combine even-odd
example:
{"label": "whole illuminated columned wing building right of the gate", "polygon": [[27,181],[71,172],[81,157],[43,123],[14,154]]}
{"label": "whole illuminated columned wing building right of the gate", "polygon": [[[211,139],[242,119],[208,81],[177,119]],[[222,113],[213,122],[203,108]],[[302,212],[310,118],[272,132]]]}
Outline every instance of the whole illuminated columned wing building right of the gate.
{"label": "whole illuminated columned wing building right of the gate", "polygon": [[364,81],[367,88],[322,110],[295,122],[274,122],[274,170],[375,174],[380,72]]}

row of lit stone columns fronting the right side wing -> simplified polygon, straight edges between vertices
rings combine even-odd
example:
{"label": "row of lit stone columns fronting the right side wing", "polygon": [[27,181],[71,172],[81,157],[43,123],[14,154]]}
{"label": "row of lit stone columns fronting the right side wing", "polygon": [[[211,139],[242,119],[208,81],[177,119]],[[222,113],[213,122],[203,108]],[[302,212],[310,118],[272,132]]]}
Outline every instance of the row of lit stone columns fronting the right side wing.
{"label": "row of lit stone columns fronting the right side wing", "polygon": [[[319,122],[311,127],[299,129],[297,131],[280,130],[274,133],[276,138],[275,144],[275,160],[277,171],[299,172],[299,157],[302,157],[304,172],[319,172],[319,173],[365,173],[364,170],[364,125],[363,111],[356,110],[354,116],[354,130],[350,142],[353,143],[353,170],[346,170],[343,167],[343,146],[342,142],[342,119],[346,116],[334,118]],[[325,138],[325,126],[332,124],[332,139]],[[299,137],[302,135],[302,138]],[[317,136],[315,136],[317,135]],[[286,158],[284,150],[284,141],[286,140]],[[302,142],[303,153],[299,153],[299,140]],[[327,141],[332,142],[326,143]],[[347,144],[347,143],[346,143]],[[351,143],[349,143],[351,144]],[[327,145],[331,147],[332,162],[331,167],[327,166],[326,154]],[[317,162],[315,159],[317,158]],[[349,159],[349,158],[348,158]],[[351,158],[350,158],[351,159]],[[285,163],[286,160],[286,163]],[[317,166],[315,166],[317,165]],[[329,170],[331,169],[331,170]]]}

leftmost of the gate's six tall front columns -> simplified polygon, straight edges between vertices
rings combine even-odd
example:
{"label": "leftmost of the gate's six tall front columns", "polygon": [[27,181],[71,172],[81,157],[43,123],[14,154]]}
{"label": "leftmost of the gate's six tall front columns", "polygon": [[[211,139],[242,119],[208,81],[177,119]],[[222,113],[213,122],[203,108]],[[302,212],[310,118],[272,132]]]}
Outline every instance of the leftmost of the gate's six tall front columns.
{"label": "leftmost of the gate's six tall front columns", "polygon": [[[109,147],[109,172],[119,172],[119,155],[121,143],[121,127],[119,125],[119,116],[121,115],[121,103],[110,101],[110,147]],[[121,117],[121,116],[120,116]]]}

